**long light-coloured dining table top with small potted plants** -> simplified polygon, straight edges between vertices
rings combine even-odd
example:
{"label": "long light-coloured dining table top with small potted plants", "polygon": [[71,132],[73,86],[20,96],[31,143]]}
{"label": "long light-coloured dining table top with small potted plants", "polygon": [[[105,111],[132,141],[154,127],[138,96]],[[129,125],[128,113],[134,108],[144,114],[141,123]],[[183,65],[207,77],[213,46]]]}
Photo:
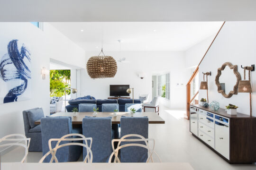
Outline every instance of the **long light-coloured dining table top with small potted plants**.
{"label": "long light-coloured dining table top with small potted plants", "polygon": [[[73,117],[73,112],[58,112],[55,114],[52,114],[51,117],[55,116],[70,116],[72,117],[72,124],[73,125],[82,125],[82,119],[85,116],[91,116],[92,117],[93,112],[77,112],[76,117]],[[131,114],[129,112],[118,112],[117,117],[113,117],[114,112],[98,112],[97,117],[112,117],[112,124],[119,124],[121,116],[127,116],[130,117]],[[134,117],[148,117],[148,123],[149,124],[165,124],[165,120],[162,119],[157,113],[155,112],[136,112],[134,113]],[[40,125],[41,121],[37,120],[35,121],[36,125]]]}

